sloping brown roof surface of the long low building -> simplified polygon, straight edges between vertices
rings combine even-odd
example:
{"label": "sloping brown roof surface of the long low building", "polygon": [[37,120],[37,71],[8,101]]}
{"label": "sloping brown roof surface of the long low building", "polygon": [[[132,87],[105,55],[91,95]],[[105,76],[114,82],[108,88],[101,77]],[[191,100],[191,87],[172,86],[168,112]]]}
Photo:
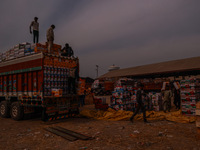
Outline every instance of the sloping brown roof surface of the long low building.
{"label": "sloping brown roof surface of the long low building", "polygon": [[173,60],[110,71],[99,78],[142,76],[169,72],[200,70],[200,57]]}

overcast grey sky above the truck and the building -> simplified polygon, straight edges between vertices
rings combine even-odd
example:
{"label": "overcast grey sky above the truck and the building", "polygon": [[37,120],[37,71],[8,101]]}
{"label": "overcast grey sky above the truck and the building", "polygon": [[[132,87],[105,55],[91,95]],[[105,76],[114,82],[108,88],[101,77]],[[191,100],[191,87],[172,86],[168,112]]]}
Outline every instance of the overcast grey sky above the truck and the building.
{"label": "overcast grey sky above the truck and the building", "polygon": [[39,42],[54,24],[55,43],[80,60],[81,77],[111,65],[128,68],[200,56],[200,0],[1,0],[0,52],[32,43],[29,26],[40,24]]}

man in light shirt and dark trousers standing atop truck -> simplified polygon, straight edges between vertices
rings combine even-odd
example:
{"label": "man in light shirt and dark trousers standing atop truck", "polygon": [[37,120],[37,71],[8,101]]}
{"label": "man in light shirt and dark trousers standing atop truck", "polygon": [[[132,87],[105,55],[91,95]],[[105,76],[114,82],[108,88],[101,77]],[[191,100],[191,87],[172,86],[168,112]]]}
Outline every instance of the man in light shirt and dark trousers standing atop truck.
{"label": "man in light shirt and dark trousers standing atop truck", "polygon": [[30,33],[32,34],[31,27],[33,27],[33,43],[38,43],[39,41],[39,23],[38,23],[38,17],[34,18],[34,21],[30,24]]}

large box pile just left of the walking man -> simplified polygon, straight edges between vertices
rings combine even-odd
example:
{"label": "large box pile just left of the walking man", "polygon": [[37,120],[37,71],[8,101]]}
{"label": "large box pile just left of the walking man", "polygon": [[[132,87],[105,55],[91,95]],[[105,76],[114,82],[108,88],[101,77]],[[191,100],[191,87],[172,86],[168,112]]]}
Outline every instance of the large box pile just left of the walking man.
{"label": "large box pile just left of the walking man", "polygon": [[136,108],[136,93],[131,80],[117,81],[110,101],[110,107],[115,110],[133,111]]}

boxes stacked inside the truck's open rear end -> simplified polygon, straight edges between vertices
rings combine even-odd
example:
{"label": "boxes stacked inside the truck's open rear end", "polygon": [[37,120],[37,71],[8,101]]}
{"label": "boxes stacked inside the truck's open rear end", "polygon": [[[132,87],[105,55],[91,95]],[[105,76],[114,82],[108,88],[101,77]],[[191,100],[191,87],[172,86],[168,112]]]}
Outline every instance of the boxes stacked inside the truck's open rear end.
{"label": "boxes stacked inside the truck's open rear end", "polygon": [[[76,66],[75,66],[75,60],[73,63],[71,63],[71,65],[69,65],[67,61],[69,60],[65,58],[45,56],[44,58],[45,96],[52,96],[53,94],[55,94],[55,91],[59,91],[59,93],[62,93],[62,95],[66,95],[68,93],[68,78],[70,76],[69,72],[70,70],[75,69],[74,67]],[[62,92],[60,90],[62,90]]]}

